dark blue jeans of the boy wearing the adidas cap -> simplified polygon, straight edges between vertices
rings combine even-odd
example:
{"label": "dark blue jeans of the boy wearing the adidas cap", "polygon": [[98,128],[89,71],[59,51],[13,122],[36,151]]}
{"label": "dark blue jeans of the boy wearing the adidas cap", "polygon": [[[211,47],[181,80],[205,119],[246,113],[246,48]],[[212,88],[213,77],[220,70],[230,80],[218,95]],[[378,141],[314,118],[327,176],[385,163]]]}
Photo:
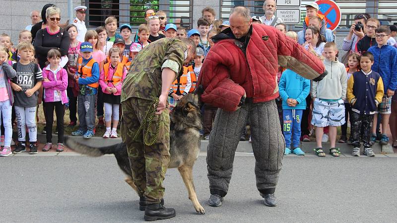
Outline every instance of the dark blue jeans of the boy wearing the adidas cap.
{"label": "dark blue jeans of the boy wearing the adidas cap", "polygon": [[77,100],[77,113],[80,125],[79,130],[94,131],[95,127],[95,107],[96,107],[96,94],[82,95],[78,94]]}

